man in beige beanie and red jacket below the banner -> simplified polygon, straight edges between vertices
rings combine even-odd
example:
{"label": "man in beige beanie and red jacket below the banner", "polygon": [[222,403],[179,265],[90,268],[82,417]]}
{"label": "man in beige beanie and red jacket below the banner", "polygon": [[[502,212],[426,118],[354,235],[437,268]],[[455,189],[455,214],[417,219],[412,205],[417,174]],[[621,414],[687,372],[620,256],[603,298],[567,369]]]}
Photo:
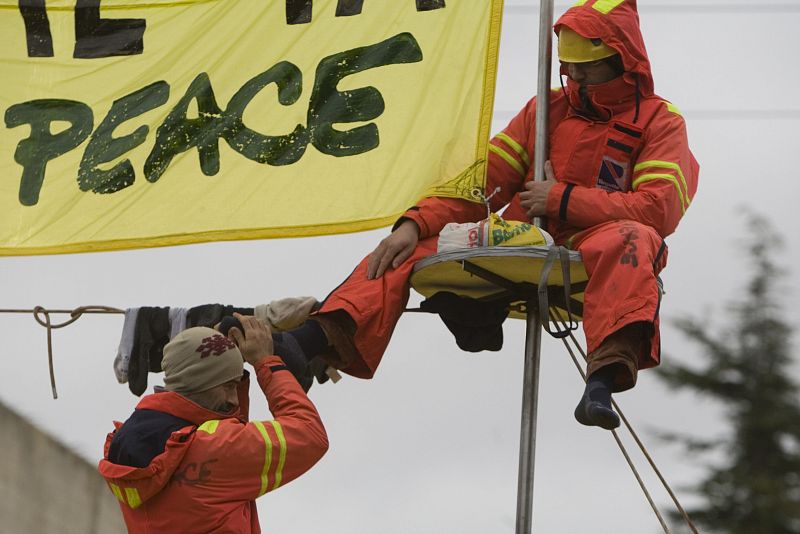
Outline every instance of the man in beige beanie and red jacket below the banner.
{"label": "man in beige beanie and red jacket below the banner", "polygon": [[[269,329],[237,315],[229,339],[190,328],[164,348],[164,388],[106,438],[98,469],[130,533],[259,533],[255,499],[308,471],[328,449],[316,408]],[[253,366],[272,421],[248,421]]]}

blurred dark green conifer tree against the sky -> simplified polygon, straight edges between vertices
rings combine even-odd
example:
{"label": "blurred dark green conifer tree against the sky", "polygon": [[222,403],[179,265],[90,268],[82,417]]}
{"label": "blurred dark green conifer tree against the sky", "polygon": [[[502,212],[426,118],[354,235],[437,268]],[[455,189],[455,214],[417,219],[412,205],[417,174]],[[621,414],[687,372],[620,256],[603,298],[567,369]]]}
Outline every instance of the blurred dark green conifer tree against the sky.
{"label": "blurred dark green conifer tree against the sky", "polygon": [[763,218],[751,215],[748,226],[752,275],[744,298],[729,306],[727,327],[712,333],[699,317],[681,319],[678,328],[701,349],[699,365],[673,363],[658,373],[673,389],[720,401],[730,432],[715,440],[668,439],[723,458],[694,488],[706,502],[688,510],[704,532],[798,533],[800,389],[790,375],[791,328],[776,296],[781,240]]}

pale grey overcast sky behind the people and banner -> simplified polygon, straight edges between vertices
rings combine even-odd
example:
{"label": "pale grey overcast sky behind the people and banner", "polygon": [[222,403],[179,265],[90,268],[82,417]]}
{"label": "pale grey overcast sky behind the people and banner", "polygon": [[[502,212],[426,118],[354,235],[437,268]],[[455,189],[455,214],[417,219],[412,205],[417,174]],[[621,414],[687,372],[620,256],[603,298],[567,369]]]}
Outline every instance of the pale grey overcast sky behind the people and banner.
{"label": "pale grey overcast sky behind the people and banner", "polygon": [[[538,4],[524,4],[506,6],[494,131],[535,91]],[[664,357],[690,362],[695,347],[669,322],[692,313],[710,328],[724,325],[724,303],[741,293],[748,274],[742,208],[773,222],[786,239],[780,262],[798,272],[800,2],[639,4],[656,91],[683,111],[701,165],[695,202],[668,240],[663,275]],[[557,4],[557,14],[565,8]],[[323,298],[386,232],[0,258],[0,307],[252,306],[286,296]],[[797,286],[790,276],[783,302],[794,327],[800,324],[800,312],[790,307]],[[112,373],[121,327],[121,316],[88,316],[54,333],[60,393],[54,401],[44,329],[29,316],[0,317],[0,399],[97,461],[111,421],[124,420],[138,400]],[[507,322],[505,336],[500,353],[465,354],[436,317],[407,314],[374,380],[315,385],[311,397],[330,452],[259,501],[264,530],[513,532],[524,324]],[[582,384],[565,351],[545,339],[542,354],[534,531],[659,532],[610,433],[573,420]],[[150,375],[151,386],[160,383]],[[266,418],[259,398],[254,392],[251,416]],[[719,407],[666,391],[652,372],[642,373],[636,389],[618,401],[667,479],[676,488],[696,481],[702,466],[659,444],[650,430],[718,435],[725,430]],[[666,512],[668,498],[654,480],[646,476]],[[679,494],[685,504],[693,502],[686,491]]]}

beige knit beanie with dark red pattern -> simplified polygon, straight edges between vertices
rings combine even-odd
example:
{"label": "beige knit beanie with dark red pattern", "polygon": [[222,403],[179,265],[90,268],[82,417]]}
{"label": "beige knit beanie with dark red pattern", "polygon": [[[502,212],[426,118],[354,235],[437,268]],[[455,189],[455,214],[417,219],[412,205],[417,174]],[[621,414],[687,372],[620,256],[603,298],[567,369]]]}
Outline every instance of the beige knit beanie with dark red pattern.
{"label": "beige knit beanie with dark red pattern", "polygon": [[184,330],[164,347],[164,387],[175,393],[199,393],[242,377],[239,348],[216,330]]}

